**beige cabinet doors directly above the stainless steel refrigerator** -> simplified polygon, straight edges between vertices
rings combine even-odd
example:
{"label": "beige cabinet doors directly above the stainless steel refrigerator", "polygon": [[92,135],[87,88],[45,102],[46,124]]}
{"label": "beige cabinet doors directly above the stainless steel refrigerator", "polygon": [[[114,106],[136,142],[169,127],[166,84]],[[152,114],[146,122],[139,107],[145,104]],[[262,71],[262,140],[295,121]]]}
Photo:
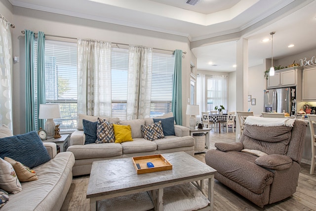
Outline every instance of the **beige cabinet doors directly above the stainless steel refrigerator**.
{"label": "beige cabinet doors directly above the stainless steel refrigerator", "polygon": [[300,67],[290,67],[282,70],[276,70],[274,76],[269,76],[267,88],[280,88],[296,86],[298,82],[298,71],[302,71]]}

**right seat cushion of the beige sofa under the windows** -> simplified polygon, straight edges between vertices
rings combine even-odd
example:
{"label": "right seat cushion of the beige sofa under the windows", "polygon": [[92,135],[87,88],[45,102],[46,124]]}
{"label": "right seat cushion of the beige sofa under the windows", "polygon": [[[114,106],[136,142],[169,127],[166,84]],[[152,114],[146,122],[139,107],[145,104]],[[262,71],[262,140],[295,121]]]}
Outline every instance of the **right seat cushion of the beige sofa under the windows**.
{"label": "right seat cushion of the beige sofa under the windows", "polygon": [[191,147],[195,140],[192,136],[177,137],[174,135],[165,136],[165,138],[153,141],[157,144],[157,150]]}

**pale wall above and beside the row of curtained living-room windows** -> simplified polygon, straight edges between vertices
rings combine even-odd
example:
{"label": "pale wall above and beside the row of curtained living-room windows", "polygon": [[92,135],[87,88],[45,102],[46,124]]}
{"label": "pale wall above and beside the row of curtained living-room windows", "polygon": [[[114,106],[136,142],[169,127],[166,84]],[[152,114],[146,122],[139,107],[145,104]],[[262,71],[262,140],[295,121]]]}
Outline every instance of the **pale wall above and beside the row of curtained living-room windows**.
{"label": "pale wall above and beside the row of curtained living-room windows", "polygon": [[[190,97],[190,59],[192,59],[188,38],[17,6],[13,7],[13,17],[14,24],[16,25],[12,36],[13,56],[20,57],[20,62],[13,66],[14,134],[25,132],[25,47],[24,36],[21,34],[21,31],[24,29],[29,29],[34,32],[42,31],[45,34],[51,35],[187,51],[182,62],[182,113],[183,125],[189,126],[189,121],[187,121],[185,115],[186,99]],[[46,36],[46,40],[48,39],[54,38]],[[76,42],[76,40],[72,39],[68,41]]]}

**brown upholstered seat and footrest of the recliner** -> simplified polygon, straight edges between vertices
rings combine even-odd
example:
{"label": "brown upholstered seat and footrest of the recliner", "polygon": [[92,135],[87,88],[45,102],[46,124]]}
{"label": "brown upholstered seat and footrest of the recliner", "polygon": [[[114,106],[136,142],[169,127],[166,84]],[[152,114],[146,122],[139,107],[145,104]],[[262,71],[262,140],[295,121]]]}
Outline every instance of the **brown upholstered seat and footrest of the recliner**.
{"label": "brown upholstered seat and footrest of the recliner", "polygon": [[264,188],[273,182],[274,174],[256,165],[257,158],[243,152],[222,152],[211,149],[205,155],[205,162],[228,179],[256,194],[262,194]]}

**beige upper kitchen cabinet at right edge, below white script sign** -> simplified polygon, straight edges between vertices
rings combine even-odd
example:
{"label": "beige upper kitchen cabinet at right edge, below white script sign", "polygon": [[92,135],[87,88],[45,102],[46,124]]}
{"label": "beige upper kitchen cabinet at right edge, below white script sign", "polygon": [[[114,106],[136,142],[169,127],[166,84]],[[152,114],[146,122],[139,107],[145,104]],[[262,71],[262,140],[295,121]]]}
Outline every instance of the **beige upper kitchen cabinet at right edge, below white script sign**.
{"label": "beige upper kitchen cabinet at right edge, below white script sign", "polygon": [[316,65],[304,67],[302,83],[302,100],[316,100]]}

